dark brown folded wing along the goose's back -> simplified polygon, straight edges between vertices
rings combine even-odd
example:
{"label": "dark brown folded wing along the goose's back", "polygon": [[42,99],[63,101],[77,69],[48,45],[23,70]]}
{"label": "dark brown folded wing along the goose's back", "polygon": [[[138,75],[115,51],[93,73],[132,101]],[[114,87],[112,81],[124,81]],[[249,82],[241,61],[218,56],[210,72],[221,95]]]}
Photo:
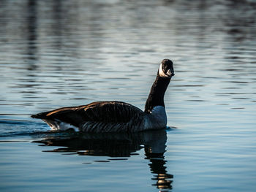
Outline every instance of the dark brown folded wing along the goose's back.
{"label": "dark brown folded wing along the goose's back", "polygon": [[73,126],[79,126],[86,121],[105,123],[126,123],[143,111],[132,104],[121,101],[97,101],[78,107],[64,107],[50,112],[31,115],[32,118],[54,120],[58,119]]}

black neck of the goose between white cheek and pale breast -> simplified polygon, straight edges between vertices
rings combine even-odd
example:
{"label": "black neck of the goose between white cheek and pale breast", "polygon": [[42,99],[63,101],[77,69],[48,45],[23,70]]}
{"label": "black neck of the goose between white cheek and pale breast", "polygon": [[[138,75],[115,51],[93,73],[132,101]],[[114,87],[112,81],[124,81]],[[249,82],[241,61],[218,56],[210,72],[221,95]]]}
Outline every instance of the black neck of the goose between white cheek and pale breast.
{"label": "black neck of the goose between white cheek and pale breast", "polygon": [[145,104],[144,112],[150,113],[156,106],[165,107],[164,96],[169,82],[170,78],[162,78],[157,72],[157,78],[151,87],[151,91]]}

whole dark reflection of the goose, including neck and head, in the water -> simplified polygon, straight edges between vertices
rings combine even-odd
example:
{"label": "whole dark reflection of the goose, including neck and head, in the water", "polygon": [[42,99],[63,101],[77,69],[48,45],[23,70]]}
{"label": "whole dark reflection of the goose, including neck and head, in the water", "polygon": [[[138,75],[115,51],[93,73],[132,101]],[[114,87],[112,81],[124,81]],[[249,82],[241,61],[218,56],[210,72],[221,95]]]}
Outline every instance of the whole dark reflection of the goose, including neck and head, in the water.
{"label": "whole dark reflection of the goose, including neck and head, in the water", "polygon": [[[73,132],[72,132],[73,133]],[[58,146],[56,149],[44,152],[56,152],[69,155],[108,156],[102,162],[112,160],[125,160],[131,155],[139,155],[143,146],[145,148],[148,166],[151,169],[154,184],[159,189],[171,189],[172,174],[167,173],[165,161],[165,148],[167,134],[165,129],[141,131],[138,133],[50,133],[45,139],[38,140],[45,146]],[[90,164],[90,163],[86,163]]]}

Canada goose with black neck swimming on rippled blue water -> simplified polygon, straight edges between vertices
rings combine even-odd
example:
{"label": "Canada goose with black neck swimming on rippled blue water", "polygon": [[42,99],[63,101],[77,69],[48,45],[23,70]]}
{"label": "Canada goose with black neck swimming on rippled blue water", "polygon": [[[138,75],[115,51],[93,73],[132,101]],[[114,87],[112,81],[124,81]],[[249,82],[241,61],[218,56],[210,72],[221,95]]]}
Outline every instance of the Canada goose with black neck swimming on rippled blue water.
{"label": "Canada goose with black neck swimming on rippled blue water", "polygon": [[166,128],[164,96],[174,76],[173,62],[163,59],[146,100],[145,110],[122,101],[95,101],[77,107],[63,107],[31,115],[45,121],[53,130],[106,133],[138,132]]}

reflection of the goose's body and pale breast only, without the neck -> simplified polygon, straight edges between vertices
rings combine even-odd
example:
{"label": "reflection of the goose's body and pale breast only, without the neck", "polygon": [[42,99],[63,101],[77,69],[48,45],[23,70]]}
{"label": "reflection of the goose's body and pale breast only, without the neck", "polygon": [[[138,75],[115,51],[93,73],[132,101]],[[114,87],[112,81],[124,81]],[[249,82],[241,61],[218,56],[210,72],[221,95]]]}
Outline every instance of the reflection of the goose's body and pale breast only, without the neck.
{"label": "reflection of the goose's body and pale breast only, without the neck", "polygon": [[[69,132],[68,132],[69,133]],[[47,146],[59,146],[52,152],[73,152],[78,155],[129,157],[143,148],[149,153],[165,153],[167,135],[165,129],[138,133],[74,133],[50,132],[45,139],[35,142]]]}

